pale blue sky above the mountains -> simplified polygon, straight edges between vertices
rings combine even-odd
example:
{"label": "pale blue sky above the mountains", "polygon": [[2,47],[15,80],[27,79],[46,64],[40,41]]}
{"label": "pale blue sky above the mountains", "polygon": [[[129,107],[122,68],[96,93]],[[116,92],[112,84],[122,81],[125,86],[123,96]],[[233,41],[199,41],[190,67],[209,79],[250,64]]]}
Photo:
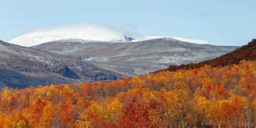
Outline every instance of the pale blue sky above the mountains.
{"label": "pale blue sky above the mountains", "polygon": [[97,23],[142,36],[213,45],[256,38],[256,0],[0,0],[0,39],[69,23]]}

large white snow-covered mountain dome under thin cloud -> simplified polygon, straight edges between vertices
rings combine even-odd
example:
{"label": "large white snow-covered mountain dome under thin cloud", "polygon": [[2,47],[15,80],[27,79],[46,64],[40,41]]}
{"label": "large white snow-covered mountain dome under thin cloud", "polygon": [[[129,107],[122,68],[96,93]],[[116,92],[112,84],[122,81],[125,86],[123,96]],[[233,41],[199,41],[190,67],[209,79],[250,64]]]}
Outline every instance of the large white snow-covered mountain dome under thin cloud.
{"label": "large white snow-covered mountain dome under thin cloud", "polygon": [[125,32],[118,29],[104,25],[83,23],[58,26],[55,28],[48,28],[41,31],[31,32],[16,37],[8,42],[12,44],[30,47],[45,42],[57,41],[61,39],[84,39],[106,42],[136,41],[136,39],[126,36]]}

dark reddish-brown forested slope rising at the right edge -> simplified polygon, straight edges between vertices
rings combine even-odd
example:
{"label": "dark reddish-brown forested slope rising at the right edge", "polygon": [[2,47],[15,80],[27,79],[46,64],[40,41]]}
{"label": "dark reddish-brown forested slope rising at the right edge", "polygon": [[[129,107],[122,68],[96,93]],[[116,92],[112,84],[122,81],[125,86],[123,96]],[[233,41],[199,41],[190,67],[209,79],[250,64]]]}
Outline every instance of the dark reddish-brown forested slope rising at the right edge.
{"label": "dark reddish-brown forested slope rising at the right edge", "polygon": [[240,60],[256,60],[256,39],[252,39],[247,45],[244,45],[233,52],[227,53],[215,59],[206,60],[200,63],[190,63],[187,65],[171,65],[166,70],[176,71],[178,69],[194,69],[204,65],[225,66],[230,64],[238,64]]}

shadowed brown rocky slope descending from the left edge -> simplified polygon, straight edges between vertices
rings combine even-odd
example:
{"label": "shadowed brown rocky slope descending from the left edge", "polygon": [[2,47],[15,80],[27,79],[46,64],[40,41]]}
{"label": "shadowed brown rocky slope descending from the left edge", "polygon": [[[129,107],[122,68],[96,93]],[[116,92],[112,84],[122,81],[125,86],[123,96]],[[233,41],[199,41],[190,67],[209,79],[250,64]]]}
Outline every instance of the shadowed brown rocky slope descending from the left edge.
{"label": "shadowed brown rocky slope descending from the left edge", "polygon": [[6,85],[23,88],[37,84],[112,80],[124,77],[73,57],[3,41],[0,41],[0,69],[1,87]]}

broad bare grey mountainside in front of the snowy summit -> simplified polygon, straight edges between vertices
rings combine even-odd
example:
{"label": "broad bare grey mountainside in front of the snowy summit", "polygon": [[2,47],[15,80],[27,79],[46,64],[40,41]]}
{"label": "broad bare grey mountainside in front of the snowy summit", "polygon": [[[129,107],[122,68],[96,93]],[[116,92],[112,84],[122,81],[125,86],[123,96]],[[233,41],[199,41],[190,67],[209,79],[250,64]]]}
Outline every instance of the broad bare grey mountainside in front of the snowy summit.
{"label": "broad bare grey mountainside in front of the snowy summit", "polygon": [[90,62],[123,75],[141,75],[170,65],[197,63],[231,52],[236,46],[194,44],[173,38],[131,43],[63,39],[33,46]]}

